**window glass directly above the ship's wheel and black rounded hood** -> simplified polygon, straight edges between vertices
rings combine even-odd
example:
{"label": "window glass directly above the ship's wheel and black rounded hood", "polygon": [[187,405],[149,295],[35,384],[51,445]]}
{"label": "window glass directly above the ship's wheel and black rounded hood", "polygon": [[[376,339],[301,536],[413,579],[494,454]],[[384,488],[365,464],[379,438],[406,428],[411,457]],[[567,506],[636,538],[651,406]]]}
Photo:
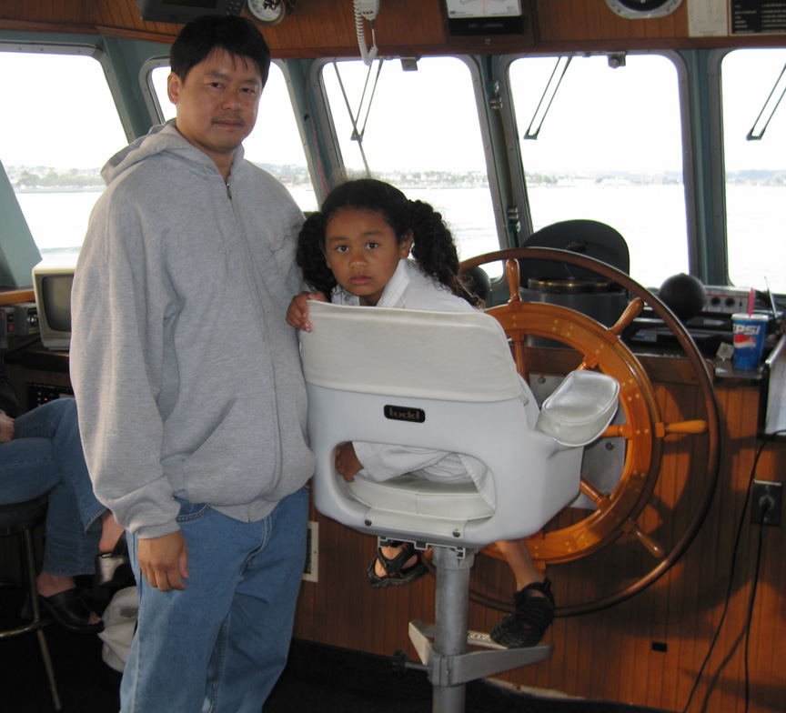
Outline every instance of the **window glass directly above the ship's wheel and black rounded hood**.
{"label": "window glass directly above the ship's wheel and black rounded hood", "polygon": [[[534,229],[598,220],[625,238],[630,276],[644,286],[688,272],[675,65],[628,55],[615,69],[605,55],[573,56],[549,105],[557,61],[526,57],[509,70]],[[523,138],[547,105],[530,130],[537,138]]]}

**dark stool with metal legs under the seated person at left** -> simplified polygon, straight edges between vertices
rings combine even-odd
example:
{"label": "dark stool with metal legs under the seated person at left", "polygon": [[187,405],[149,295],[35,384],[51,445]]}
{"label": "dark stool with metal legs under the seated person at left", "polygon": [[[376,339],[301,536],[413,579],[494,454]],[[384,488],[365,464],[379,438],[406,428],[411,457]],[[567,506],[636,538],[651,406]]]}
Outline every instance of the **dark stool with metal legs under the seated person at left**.
{"label": "dark stool with metal legs under the seated person at left", "polygon": [[50,623],[49,618],[41,616],[38,606],[38,587],[35,584],[35,557],[33,551],[33,528],[44,522],[46,516],[47,497],[35,497],[24,503],[0,505],[0,537],[15,535],[19,541],[19,556],[23,563],[23,580],[21,586],[29,596],[33,609],[33,620],[20,624],[15,628],[0,630],[0,639],[11,638],[35,631],[38,637],[38,646],[41,648],[41,657],[44,658],[46,678],[49,679],[49,688],[52,691],[52,702],[55,710],[62,708],[60,696],[55,685],[55,671],[52,668],[52,658],[42,629]]}

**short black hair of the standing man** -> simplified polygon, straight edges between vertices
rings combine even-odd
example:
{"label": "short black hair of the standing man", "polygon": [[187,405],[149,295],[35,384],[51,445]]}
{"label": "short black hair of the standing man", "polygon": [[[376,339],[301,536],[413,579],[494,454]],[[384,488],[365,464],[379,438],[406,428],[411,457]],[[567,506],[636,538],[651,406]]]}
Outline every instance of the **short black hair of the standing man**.
{"label": "short black hair of the standing man", "polygon": [[248,57],[267,83],[270,48],[265,38],[247,17],[237,15],[202,15],[189,22],[177,35],[169,53],[172,71],[186,81],[192,67],[204,62],[213,50],[225,49],[230,55]]}

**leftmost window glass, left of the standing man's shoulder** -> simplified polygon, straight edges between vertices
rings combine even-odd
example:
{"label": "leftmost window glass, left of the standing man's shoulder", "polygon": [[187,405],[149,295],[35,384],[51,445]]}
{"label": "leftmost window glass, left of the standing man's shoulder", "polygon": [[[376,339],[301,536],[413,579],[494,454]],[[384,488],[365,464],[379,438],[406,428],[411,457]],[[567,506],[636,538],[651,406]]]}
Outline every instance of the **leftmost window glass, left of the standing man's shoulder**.
{"label": "leftmost window glass, left of the standing man's shoulder", "polygon": [[127,143],[106,77],[90,56],[3,51],[0,74],[14,97],[0,112],[0,160],[41,255],[74,262],[101,166]]}

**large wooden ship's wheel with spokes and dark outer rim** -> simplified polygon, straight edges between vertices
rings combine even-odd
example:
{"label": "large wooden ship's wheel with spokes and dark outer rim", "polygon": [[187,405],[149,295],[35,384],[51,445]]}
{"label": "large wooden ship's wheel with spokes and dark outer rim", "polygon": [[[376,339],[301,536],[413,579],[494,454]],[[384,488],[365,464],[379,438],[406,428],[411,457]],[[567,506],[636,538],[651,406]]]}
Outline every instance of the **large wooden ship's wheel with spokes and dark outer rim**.
{"label": "large wooden ship's wheel with spokes and dark outer rim", "polygon": [[[627,290],[633,299],[617,324],[610,328],[567,307],[524,302],[519,296],[519,260],[530,259],[566,263],[588,269]],[[670,309],[650,291],[616,268],[586,256],[549,248],[500,250],[470,258],[464,261],[461,267],[469,269],[496,261],[505,261],[511,296],[507,305],[491,307],[487,313],[499,320],[509,336],[513,356],[522,377],[529,381],[529,337],[542,337],[560,342],[574,349],[579,356],[583,355],[578,368],[598,369],[620,383],[620,411],[624,415],[624,422],[610,426],[601,436],[621,437],[625,442],[624,464],[616,487],[611,492],[602,492],[587,478],[582,477],[581,492],[590,498],[595,509],[590,510],[589,515],[578,522],[564,527],[547,526],[527,539],[529,552],[536,565],[545,568],[587,557],[620,537],[635,537],[657,564],[619,591],[591,601],[557,608],[557,616],[573,616],[607,608],[634,596],[665,574],[690,545],[707,514],[718,478],[720,454],[718,405],[710,373],[699,349]],[[623,330],[640,314],[645,304],[670,328],[688,357],[694,381],[700,388],[700,400],[703,402],[704,414],[701,419],[664,423],[647,372],[639,359],[620,340]],[[637,517],[650,501],[657,484],[663,439],[671,434],[705,438],[708,443],[706,450],[702,451],[707,454],[706,459],[702,457],[700,463],[690,465],[690,477],[703,478],[701,496],[681,536],[675,537],[673,544],[667,548],[640,527]],[[494,546],[485,548],[483,552],[501,558]],[[489,599],[477,592],[473,598],[493,608],[512,610],[509,602]]]}

